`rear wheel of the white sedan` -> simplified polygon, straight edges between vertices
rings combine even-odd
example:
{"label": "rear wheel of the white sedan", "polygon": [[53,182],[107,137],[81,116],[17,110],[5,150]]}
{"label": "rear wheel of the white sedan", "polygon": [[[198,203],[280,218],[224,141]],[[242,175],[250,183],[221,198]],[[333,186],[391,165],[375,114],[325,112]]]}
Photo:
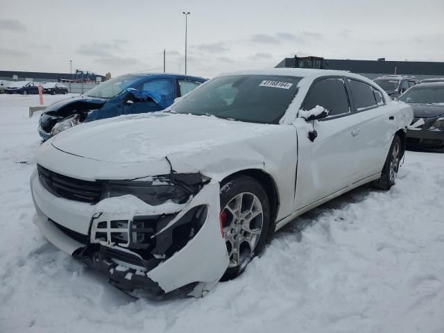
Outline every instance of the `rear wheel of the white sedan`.
{"label": "rear wheel of the white sedan", "polygon": [[400,168],[401,146],[402,144],[400,137],[395,135],[395,137],[393,137],[393,142],[391,143],[390,149],[388,150],[384,168],[382,168],[381,178],[376,180],[373,183],[373,186],[387,191],[388,189],[391,189],[393,185],[395,185],[395,179]]}

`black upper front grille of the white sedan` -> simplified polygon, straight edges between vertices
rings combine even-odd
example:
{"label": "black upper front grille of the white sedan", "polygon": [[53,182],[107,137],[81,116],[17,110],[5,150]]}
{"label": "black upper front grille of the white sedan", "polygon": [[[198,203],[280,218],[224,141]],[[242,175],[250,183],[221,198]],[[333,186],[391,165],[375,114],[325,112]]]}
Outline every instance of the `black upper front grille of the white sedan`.
{"label": "black upper front grille of the white sedan", "polygon": [[101,182],[63,176],[39,164],[37,164],[37,171],[43,187],[55,196],[84,203],[98,203],[101,198]]}

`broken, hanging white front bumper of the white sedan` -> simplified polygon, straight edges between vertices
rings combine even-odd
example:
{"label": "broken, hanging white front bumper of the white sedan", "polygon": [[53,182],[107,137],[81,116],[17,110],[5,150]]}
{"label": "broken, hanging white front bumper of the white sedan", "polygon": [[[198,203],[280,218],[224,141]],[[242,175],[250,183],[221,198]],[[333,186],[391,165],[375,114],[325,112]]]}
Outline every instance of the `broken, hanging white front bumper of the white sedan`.
{"label": "broken, hanging white front bumper of the white sedan", "polygon": [[[141,288],[155,295],[183,289],[201,297],[228,267],[218,182],[208,182],[179,210],[168,204],[150,206],[135,197],[126,205],[123,197],[130,196],[96,205],[58,198],[42,187],[36,172],[31,192],[33,222],[44,237],[107,274],[121,289]],[[106,200],[110,202],[103,205]]]}

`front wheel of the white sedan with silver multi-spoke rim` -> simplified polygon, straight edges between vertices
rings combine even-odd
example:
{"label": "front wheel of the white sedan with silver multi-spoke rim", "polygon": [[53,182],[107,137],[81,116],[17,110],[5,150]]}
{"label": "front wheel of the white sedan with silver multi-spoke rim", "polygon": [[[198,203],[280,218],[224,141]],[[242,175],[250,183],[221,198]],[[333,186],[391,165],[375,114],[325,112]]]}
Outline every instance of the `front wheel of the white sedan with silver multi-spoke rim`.
{"label": "front wheel of the white sedan with silver multi-spoke rim", "polygon": [[261,252],[268,237],[270,216],[266,191],[254,178],[238,176],[222,185],[220,219],[230,264],[221,281],[236,278]]}

